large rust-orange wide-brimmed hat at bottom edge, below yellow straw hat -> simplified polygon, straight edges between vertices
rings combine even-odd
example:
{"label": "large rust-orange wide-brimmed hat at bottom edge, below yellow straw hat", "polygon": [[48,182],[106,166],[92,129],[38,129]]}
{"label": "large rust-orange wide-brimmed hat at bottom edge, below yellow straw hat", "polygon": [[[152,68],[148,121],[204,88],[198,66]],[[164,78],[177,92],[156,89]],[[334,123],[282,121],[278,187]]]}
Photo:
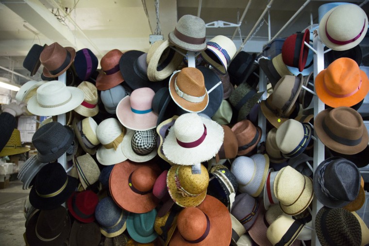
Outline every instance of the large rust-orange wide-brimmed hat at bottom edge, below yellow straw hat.
{"label": "large rust-orange wide-brimmed hat at bottom edge, below yellow straw hat", "polygon": [[208,195],[199,206],[178,214],[177,230],[169,246],[229,245],[231,238],[232,221],[227,207]]}

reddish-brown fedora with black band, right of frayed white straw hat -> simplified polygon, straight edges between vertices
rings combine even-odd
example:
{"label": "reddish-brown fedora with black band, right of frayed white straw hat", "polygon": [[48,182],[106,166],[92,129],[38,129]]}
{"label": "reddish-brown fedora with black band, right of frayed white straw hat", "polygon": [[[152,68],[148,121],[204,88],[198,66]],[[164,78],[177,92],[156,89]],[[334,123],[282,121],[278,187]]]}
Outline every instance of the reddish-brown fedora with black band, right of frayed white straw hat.
{"label": "reddish-brown fedora with black band, right of frayed white straw hat", "polygon": [[231,129],[237,138],[237,155],[246,155],[251,152],[261,139],[261,128],[255,127],[248,119],[237,122]]}

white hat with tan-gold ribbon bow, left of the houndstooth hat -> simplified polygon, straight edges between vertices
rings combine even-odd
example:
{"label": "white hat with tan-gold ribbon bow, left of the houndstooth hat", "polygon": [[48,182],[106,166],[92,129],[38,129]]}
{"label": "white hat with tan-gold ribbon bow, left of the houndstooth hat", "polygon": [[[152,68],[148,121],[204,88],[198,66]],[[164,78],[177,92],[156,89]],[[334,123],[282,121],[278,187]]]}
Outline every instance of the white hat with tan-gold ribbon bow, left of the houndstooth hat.
{"label": "white hat with tan-gold ribbon bow, left of the houndstooth hat", "polygon": [[100,164],[113,165],[127,160],[123,154],[122,141],[126,133],[119,121],[115,118],[108,118],[99,124],[96,129],[96,136],[101,142],[96,158]]}

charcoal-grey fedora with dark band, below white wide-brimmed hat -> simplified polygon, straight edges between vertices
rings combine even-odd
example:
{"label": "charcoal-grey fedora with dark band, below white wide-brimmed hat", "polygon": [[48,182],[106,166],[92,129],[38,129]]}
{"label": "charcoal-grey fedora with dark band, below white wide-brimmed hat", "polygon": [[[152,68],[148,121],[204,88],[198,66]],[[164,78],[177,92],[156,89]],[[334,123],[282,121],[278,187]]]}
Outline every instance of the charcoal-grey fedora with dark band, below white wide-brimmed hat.
{"label": "charcoal-grey fedora with dark band, below white wide-brimmed hat", "polygon": [[37,149],[37,159],[49,163],[62,156],[70,147],[74,132],[68,126],[53,121],[34,132],[32,143]]}

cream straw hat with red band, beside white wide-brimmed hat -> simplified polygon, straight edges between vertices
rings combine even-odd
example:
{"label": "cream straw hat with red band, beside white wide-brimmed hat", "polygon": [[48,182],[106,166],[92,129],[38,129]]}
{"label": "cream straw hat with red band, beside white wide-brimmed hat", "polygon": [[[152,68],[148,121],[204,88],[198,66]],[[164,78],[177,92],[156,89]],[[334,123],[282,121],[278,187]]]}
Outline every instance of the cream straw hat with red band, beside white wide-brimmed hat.
{"label": "cream straw hat with red band, beside white wide-brimmed hat", "polygon": [[84,117],[97,115],[99,113],[99,96],[96,86],[91,82],[84,81],[77,88],[84,92],[84,101],[74,111]]}

